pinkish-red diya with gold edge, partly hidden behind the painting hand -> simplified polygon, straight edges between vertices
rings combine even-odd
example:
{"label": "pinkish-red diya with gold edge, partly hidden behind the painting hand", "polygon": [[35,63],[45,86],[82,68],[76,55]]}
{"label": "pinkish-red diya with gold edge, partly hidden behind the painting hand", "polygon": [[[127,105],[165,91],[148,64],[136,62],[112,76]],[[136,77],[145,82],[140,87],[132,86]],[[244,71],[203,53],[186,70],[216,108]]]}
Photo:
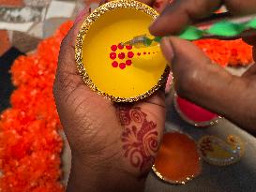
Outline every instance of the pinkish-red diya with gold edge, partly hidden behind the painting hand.
{"label": "pinkish-red diya with gold edge, partly hidden behind the painting hand", "polygon": [[217,114],[207,111],[176,94],[174,95],[173,105],[179,116],[192,126],[213,126],[220,119]]}

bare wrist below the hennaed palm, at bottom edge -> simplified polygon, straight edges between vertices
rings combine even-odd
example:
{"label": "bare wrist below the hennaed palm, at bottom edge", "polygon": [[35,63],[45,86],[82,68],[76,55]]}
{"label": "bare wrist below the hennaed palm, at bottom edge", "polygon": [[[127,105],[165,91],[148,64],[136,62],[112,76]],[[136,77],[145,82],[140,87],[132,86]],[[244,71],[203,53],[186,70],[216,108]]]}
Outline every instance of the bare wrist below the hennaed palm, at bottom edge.
{"label": "bare wrist below the hennaed palm, at bottom edge", "polygon": [[72,156],[67,191],[143,191],[145,177],[116,168],[118,163],[117,159]]}

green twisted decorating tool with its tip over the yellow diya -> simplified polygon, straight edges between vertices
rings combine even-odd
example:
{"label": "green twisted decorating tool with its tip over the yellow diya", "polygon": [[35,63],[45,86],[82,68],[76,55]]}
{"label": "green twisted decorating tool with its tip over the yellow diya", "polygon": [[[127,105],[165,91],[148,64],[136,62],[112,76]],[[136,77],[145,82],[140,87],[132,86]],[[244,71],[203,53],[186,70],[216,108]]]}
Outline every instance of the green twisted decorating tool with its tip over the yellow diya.
{"label": "green twisted decorating tool with its tip over the yellow diya", "polygon": [[[229,12],[225,12],[215,13],[209,18],[188,26],[178,37],[197,40],[202,38],[233,39],[252,35],[256,35],[256,14],[232,17]],[[161,38],[141,35],[121,44],[144,48],[158,44]]]}

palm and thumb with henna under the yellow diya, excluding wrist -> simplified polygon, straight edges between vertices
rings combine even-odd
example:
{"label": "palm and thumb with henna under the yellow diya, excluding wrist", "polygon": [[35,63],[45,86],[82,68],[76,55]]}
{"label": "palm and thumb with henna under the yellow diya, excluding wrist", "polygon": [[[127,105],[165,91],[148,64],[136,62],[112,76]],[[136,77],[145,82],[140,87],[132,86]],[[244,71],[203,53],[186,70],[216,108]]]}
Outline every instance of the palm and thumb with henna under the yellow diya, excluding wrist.
{"label": "palm and thumb with henna under the yellow diya, excluding wrist", "polygon": [[78,74],[74,39],[78,26],[63,40],[54,97],[72,155],[91,163],[120,162],[120,168],[144,173],[154,163],[165,120],[164,94],[134,104],[113,104],[91,91]]}

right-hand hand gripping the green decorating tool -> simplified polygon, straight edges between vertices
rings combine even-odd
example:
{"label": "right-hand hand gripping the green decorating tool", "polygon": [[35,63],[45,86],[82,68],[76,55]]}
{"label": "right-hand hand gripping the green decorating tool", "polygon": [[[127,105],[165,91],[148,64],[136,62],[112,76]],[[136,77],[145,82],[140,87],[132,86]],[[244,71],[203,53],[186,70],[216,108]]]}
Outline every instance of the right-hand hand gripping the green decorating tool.
{"label": "right-hand hand gripping the green decorating tool", "polygon": [[[179,33],[186,25],[209,16],[224,2],[233,15],[256,12],[256,1],[176,0],[166,7],[149,30],[154,36]],[[256,45],[255,37],[245,39]],[[162,52],[171,63],[178,95],[230,119],[256,133],[256,66],[243,77],[234,77],[212,61],[192,43],[178,37],[164,37]],[[253,48],[256,59],[255,47]]]}

